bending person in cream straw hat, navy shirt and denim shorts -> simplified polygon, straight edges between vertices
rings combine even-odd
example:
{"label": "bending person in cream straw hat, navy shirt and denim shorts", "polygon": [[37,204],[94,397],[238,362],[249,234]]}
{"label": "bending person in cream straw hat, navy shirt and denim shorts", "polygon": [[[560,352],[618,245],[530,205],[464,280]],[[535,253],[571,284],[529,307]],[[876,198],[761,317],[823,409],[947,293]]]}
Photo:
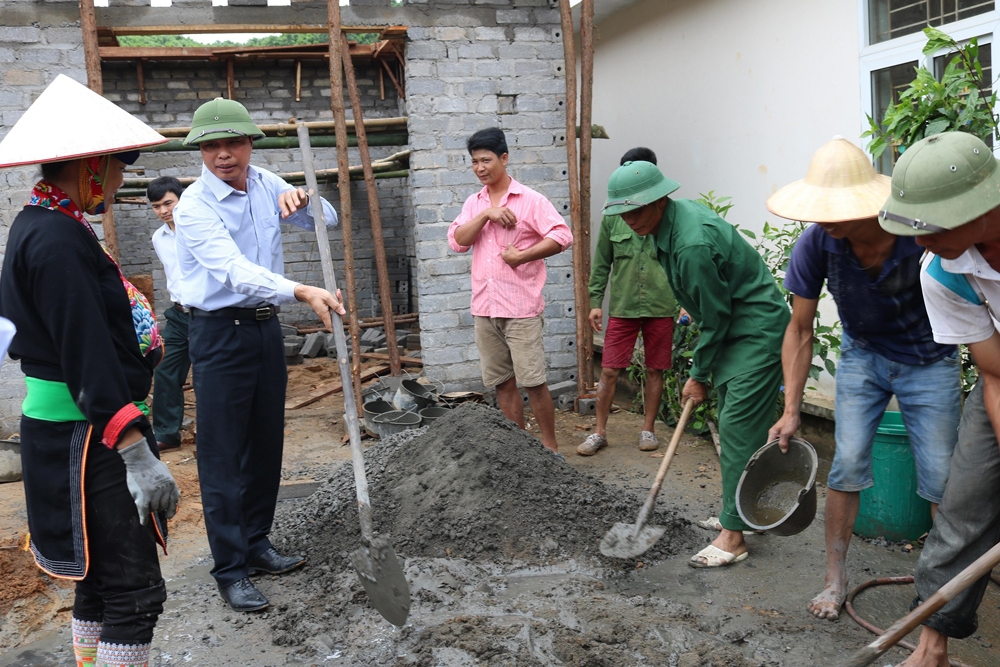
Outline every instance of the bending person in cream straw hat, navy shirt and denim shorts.
{"label": "bending person in cream straw hat, navy shirt and denim shorts", "polygon": [[824,283],[843,323],[837,367],[837,450],[827,482],[826,583],[809,602],[835,620],[847,596],[847,548],[860,491],[872,486],[872,440],[893,394],[917,464],[917,493],[941,502],[958,436],[960,381],[954,345],[934,342],[920,289],[923,249],[879,226],[889,179],[841,137],[813,156],[806,177],[767,200],[772,213],[814,222],[792,250],[785,287],[795,295],[785,330],[785,410],[770,438],[788,447],[813,358],[813,323]]}

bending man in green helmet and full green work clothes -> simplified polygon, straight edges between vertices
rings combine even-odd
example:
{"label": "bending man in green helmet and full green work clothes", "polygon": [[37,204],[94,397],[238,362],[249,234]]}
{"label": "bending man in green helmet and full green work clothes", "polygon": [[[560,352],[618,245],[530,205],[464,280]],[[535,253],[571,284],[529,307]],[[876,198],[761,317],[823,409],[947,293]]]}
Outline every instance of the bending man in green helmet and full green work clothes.
{"label": "bending man in green helmet and full green work clothes", "polygon": [[701,403],[709,382],[719,394],[722,530],[689,564],[720,567],[748,555],[743,531],[750,527],[736,511],[736,486],[774,422],[789,313],[757,251],[707,207],[667,196],[679,187],[654,164],[627,163],[608,181],[604,214],[655,237],[674,296],[701,329],[681,396]]}

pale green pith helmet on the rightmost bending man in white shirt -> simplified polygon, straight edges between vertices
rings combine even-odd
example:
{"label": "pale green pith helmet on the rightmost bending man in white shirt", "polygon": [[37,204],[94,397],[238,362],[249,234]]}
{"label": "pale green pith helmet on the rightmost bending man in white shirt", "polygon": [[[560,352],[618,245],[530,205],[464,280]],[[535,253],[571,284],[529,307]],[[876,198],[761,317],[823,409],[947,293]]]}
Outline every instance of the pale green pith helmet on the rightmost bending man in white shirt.
{"label": "pale green pith helmet on the rightmost bending man in white shirt", "polygon": [[936,234],[998,206],[1000,169],[993,151],[967,132],[945,132],[918,141],[899,158],[879,223],[897,236]]}

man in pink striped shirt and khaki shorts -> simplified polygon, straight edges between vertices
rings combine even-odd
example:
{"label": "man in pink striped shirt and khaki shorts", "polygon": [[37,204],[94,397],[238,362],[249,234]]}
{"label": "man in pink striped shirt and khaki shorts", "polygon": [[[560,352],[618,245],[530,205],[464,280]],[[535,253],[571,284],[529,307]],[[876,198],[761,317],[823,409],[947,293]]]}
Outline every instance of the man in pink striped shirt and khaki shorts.
{"label": "man in pink striped shirt and khaki shorts", "polygon": [[524,428],[528,393],[542,444],[558,454],[555,409],[545,384],[542,339],[546,257],[573,243],[569,227],[543,195],[507,174],[507,139],[490,128],[467,142],[483,189],[465,200],[448,228],[456,252],[472,248],[472,315],[483,384],[496,387],[507,418]]}

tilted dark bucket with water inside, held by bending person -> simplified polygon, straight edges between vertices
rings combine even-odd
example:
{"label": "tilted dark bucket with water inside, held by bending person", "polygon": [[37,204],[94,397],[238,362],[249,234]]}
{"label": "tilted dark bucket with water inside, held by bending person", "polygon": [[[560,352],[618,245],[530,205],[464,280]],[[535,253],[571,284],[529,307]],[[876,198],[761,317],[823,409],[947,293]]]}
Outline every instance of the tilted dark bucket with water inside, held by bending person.
{"label": "tilted dark bucket with water inside, held by bending person", "polygon": [[816,450],[792,438],[788,453],[778,441],[767,443],[750,457],[736,487],[736,510],[754,530],[796,535],[816,516]]}

